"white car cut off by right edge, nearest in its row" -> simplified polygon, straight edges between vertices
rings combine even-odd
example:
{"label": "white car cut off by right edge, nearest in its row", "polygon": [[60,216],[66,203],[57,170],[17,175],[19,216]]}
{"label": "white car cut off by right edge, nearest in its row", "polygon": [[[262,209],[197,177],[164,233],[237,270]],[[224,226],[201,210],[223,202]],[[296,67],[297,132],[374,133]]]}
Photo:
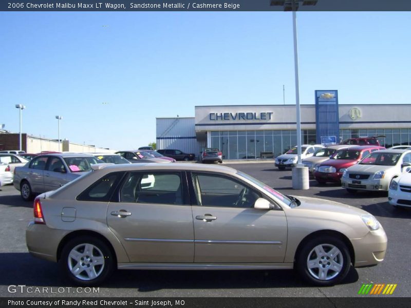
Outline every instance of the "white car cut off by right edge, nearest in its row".
{"label": "white car cut off by right edge, nearest in its row", "polygon": [[411,168],[406,174],[391,181],[388,202],[394,207],[411,207]]}

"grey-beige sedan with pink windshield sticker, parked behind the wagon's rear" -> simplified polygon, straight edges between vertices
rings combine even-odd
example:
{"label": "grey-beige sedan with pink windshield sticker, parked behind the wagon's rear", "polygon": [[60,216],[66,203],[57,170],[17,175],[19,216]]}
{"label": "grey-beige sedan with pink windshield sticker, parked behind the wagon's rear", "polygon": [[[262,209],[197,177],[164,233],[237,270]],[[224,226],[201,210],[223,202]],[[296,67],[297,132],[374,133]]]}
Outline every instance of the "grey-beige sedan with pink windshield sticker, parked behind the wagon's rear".
{"label": "grey-beige sedan with pink windshield sticker, parked behind the wagon's rear", "polygon": [[57,189],[91,170],[91,165],[104,163],[97,157],[78,153],[39,155],[24,167],[16,167],[13,185],[23,200],[32,200],[42,192]]}

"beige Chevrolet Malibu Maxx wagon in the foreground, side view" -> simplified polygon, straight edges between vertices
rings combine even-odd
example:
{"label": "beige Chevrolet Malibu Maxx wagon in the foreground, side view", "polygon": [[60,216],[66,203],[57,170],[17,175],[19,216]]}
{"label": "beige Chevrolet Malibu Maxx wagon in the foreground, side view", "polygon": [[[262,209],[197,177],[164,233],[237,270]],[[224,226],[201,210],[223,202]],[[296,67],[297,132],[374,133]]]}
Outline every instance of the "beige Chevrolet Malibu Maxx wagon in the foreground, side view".
{"label": "beige Chevrolet Malibu Maxx wagon in the foreground, side view", "polygon": [[296,268],[312,284],[332,285],[351,264],[385,256],[384,229],[366,211],[285,196],[232,168],[92,169],[38,196],[26,233],[32,255],[59,262],[79,285],[100,284],[116,268]]}

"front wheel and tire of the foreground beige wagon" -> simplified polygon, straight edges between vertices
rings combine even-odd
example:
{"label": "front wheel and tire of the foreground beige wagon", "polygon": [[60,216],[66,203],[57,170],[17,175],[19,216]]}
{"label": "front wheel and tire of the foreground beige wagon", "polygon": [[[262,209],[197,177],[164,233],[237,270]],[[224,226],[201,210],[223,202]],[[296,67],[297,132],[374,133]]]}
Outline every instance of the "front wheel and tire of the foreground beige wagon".
{"label": "front wheel and tire of the foreground beige wagon", "polygon": [[[339,238],[331,236],[318,236],[303,244],[296,258],[296,268],[301,277],[308,283],[321,286],[330,286],[343,280],[350,269],[351,258],[347,245]],[[317,251],[325,253],[317,255]],[[337,254],[329,256],[333,249],[337,248]],[[315,250],[316,249],[316,250]],[[309,268],[309,264],[312,267]],[[316,264],[318,267],[315,267]],[[322,278],[320,279],[320,277]]]}

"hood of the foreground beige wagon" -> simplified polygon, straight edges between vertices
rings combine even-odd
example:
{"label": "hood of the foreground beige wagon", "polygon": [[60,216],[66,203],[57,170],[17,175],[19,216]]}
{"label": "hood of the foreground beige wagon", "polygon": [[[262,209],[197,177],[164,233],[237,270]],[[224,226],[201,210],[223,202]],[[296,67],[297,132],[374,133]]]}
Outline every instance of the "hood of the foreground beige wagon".
{"label": "hood of the foreground beige wagon", "polygon": [[341,214],[369,214],[365,210],[359,209],[354,206],[346,205],[340,202],[324,200],[319,198],[310,198],[302,196],[294,196],[296,199],[300,200],[301,204],[296,208],[318,210],[318,211],[330,211],[333,213]]}

